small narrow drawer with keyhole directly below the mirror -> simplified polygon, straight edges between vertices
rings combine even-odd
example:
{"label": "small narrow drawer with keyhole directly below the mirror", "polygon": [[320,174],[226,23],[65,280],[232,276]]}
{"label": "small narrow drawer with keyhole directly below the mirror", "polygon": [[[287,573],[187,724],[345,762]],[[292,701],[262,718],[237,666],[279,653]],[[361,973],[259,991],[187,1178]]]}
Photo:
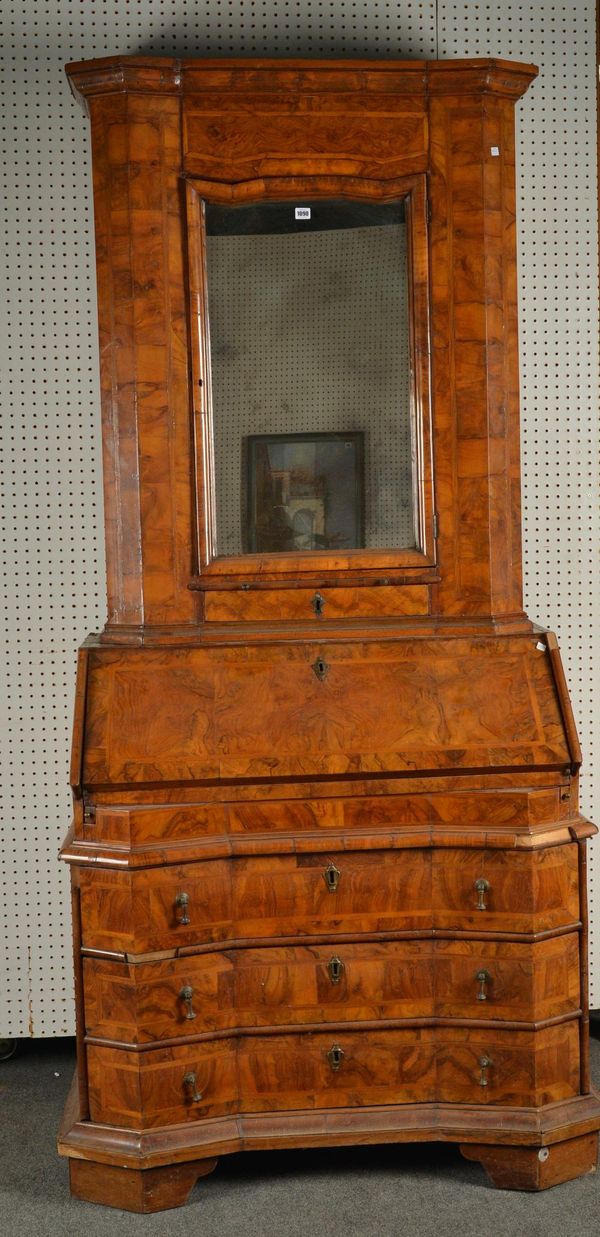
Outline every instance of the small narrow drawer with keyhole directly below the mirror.
{"label": "small narrow drawer with keyhole directly below the mirror", "polygon": [[277,622],[289,618],[396,618],[429,612],[426,584],[361,589],[216,589],[204,594],[205,622]]}

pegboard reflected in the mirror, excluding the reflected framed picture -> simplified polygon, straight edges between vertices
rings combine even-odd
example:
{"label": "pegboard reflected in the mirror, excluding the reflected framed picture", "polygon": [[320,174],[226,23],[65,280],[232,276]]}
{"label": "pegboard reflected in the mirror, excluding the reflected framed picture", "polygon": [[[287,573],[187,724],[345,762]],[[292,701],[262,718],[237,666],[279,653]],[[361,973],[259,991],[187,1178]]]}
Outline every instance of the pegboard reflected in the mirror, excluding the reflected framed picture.
{"label": "pegboard reflected in the mirror, excluding the reflected framed picture", "polygon": [[362,544],[413,546],[405,225],[209,236],[207,260],[218,553],[244,552],[247,434],[361,433]]}

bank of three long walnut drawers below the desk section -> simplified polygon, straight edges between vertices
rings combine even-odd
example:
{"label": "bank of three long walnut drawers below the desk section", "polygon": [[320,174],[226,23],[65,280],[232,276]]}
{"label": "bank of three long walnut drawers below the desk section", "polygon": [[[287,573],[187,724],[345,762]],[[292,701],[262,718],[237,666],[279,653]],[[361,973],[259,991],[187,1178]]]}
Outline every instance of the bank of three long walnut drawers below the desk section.
{"label": "bank of three long walnut drawers below the desk section", "polygon": [[575,844],[371,839],[79,888],[93,1121],[578,1094]]}

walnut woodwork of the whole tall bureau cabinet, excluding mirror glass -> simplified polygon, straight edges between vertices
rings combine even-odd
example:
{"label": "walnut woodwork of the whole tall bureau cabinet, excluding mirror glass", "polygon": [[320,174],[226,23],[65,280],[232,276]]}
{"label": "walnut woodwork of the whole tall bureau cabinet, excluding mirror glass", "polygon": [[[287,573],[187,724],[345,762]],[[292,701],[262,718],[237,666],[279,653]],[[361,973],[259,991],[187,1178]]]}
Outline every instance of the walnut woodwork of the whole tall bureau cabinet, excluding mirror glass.
{"label": "walnut woodwork of the whole tall bureau cabinet, excluding mirror glass", "polygon": [[[124,57],[68,74],[92,121],[109,595],[79,657],[63,847],[73,1192],[156,1211],[229,1152],[414,1139],[456,1142],[499,1186],[589,1171],[594,826],[557,644],[521,595],[513,109],[536,71]],[[369,531],[372,492],[364,541],[330,536],[324,474],[311,492],[302,470],[268,480],[259,450],[286,544],[245,553],[240,515],[219,548],[240,443],[214,255],[231,219],[256,233],[294,203],[332,228],[353,203],[369,234],[393,214],[406,238],[403,546]],[[359,338],[365,421],[322,435],[367,455],[372,356]],[[260,366],[247,391],[262,408]],[[251,518],[250,474],[229,475]]]}

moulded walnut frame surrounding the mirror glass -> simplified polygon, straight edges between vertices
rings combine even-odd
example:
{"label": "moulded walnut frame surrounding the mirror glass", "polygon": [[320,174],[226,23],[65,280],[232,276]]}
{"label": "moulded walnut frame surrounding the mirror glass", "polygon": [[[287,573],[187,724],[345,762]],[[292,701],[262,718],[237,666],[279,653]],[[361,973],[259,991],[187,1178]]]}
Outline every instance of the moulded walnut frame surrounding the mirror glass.
{"label": "moulded walnut frame surrounding the mirror glass", "polygon": [[[408,306],[411,355],[411,424],[413,510],[417,548],[294,550],[291,553],[218,553],[210,329],[208,314],[204,203],[249,205],[294,198],[346,198],[362,202],[405,199],[407,218]],[[344,578],[348,583],[435,575],[434,479],[432,447],[429,251],[427,177],[391,181],[348,176],[264,177],[223,183],[192,177],[186,181],[186,218],[191,304],[191,365],[194,435],[197,562],[192,588],[235,586],[249,580],[292,585],[298,580]]]}

